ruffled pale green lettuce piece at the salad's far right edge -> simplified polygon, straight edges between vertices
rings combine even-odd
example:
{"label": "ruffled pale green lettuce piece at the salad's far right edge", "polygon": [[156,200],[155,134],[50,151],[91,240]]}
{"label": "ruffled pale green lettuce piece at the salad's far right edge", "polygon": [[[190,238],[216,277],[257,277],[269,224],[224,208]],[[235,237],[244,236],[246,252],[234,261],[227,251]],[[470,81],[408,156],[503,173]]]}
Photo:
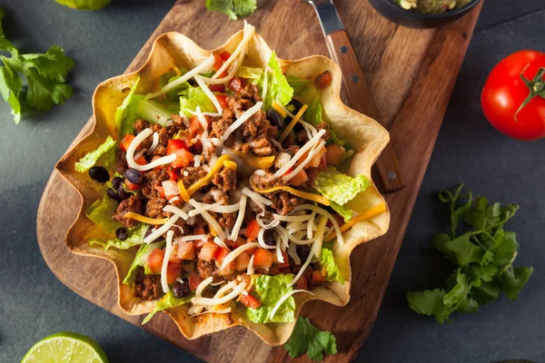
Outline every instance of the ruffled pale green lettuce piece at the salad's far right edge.
{"label": "ruffled pale green lettuce piece at the salad's far right edge", "polygon": [[352,211],[343,208],[342,205],[352,201],[360,191],[365,191],[369,185],[369,179],[365,175],[352,178],[352,176],[337,172],[335,168],[330,167],[327,171],[318,174],[313,187],[332,201],[332,208],[342,215],[344,221],[348,221],[352,218]]}

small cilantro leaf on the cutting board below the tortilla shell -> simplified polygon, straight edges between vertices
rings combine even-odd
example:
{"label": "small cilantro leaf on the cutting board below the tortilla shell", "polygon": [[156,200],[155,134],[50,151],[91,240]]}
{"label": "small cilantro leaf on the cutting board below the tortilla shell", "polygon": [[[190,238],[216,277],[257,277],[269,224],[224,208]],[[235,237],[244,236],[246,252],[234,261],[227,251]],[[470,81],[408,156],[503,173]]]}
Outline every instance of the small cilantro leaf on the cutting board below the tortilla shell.
{"label": "small cilantro leaf on the cutting board below the tortilla shell", "polygon": [[314,328],[309,319],[299,317],[284,348],[292,358],[306,352],[308,358],[321,361],[324,353],[337,354],[337,339],[329,331]]}

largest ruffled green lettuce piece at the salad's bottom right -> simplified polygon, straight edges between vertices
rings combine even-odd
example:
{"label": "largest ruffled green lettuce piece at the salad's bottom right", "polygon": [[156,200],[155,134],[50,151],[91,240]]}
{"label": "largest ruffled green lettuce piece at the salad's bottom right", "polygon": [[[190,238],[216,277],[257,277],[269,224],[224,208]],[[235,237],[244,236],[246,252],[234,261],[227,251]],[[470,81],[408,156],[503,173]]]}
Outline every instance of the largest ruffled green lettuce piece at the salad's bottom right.
{"label": "largest ruffled green lettuce piece at the salad's bottom right", "polygon": [[253,289],[257,299],[262,303],[258,309],[246,309],[246,316],[254,323],[282,323],[295,319],[295,300],[291,296],[285,300],[276,314],[271,317],[271,311],[286,293],[292,290],[288,284],[292,282],[292,275],[253,276]]}

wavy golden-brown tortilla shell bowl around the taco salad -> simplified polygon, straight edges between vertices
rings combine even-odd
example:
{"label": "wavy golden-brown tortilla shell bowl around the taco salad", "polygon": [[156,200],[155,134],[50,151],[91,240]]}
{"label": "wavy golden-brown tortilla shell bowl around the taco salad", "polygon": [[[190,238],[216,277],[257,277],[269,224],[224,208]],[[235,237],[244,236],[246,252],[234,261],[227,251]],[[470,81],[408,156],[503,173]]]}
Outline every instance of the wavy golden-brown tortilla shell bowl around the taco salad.
{"label": "wavy golden-brown tortilla shell bowl around the taco salad", "polygon": [[[234,34],[223,46],[207,51],[194,44],[183,34],[167,33],[159,36],[152,47],[146,63],[138,71],[131,74],[122,74],[99,84],[93,96],[94,128],[71,148],[58,162],[56,168],[70,182],[82,197],[82,206],[74,224],[66,234],[66,246],[69,250],[80,255],[87,255],[110,260],[114,263],[119,287],[119,306],[129,315],[139,315],[150,312],[154,308],[154,301],[145,301],[134,297],[134,290],[122,283],[127,273],[137,247],[130,250],[104,250],[100,246],[90,246],[87,241],[92,238],[108,240],[112,234],[105,233],[101,228],[85,217],[85,210],[97,199],[102,198],[97,183],[92,181],[86,172],[74,171],[74,163],[86,152],[96,149],[108,135],[116,138],[115,111],[125,96],[140,77],[136,93],[150,93],[158,89],[158,80],[162,74],[172,71],[173,66],[192,69],[203,62],[212,53],[223,51],[233,52],[241,42],[243,32]],[[271,48],[258,34],[248,44],[246,65],[265,68],[272,53]],[[364,174],[371,180],[371,167],[382,149],[389,141],[389,134],[371,118],[353,111],[344,105],[339,96],[341,91],[342,74],[337,64],[322,55],[313,55],[297,61],[283,61],[279,64],[285,74],[292,74],[300,78],[313,80],[318,74],[325,71],[332,73],[332,83],[320,92],[323,106],[323,118],[332,124],[335,132],[342,139],[352,144],[357,152],[353,157],[348,173],[352,176]],[[310,100],[302,100],[309,102]],[[374,185],[362,191],[349,203],[353,211],[366,211],[373,206],[385,202]],[[375,239],[388,230],[390,213],[388,211],[362,221],[344,233],[345,244],[340,247],[334,244],[333,255],[344,278],[344,284],[330,282],[326,287],[313,289],[311,294],[299,293],[294,295],[296,302],[295,317],[299,315],[302,304],[312,299],[320,299],[337,306],[344,306],[350,299],[350,254],[352,250],[368,240]],[[239,304],[240,305],[240,304]],[[237,306],[231,314],[207,314],[196,318],[189,318],[187,310],[189,304],[166,310],[174,320],[185,338],[194,339],[206,334],[212,334],[223,329],[242,325],[252,330],[269,345],[281,345],[292,334],[295,321],[290,323],[255,324],[246,318],[244,309]]]}

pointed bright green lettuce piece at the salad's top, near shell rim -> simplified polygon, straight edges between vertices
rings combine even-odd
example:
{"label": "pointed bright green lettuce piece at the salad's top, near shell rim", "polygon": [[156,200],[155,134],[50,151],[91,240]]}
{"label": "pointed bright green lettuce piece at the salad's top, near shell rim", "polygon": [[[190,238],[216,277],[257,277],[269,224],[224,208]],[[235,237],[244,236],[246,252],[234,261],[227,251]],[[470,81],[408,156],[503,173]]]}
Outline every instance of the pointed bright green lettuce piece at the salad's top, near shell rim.
{"label": "pointed bright green lettuce piece at the salad's top, near shell rim", "polygon": [[[263,103],[265,110],[272,107],[272,101],[282,103],[285,105],[292,101],[293,89],[290,83],[286,80],[285,75],[282,74],[282,69],[276,60],[276,54],[272,51],[271,58],[268,63],[269,72],[267,72],[267,93]],[[263,83],[265,81],[265,73],[261,75],[258,81],[260,91],[263,91]]]}

